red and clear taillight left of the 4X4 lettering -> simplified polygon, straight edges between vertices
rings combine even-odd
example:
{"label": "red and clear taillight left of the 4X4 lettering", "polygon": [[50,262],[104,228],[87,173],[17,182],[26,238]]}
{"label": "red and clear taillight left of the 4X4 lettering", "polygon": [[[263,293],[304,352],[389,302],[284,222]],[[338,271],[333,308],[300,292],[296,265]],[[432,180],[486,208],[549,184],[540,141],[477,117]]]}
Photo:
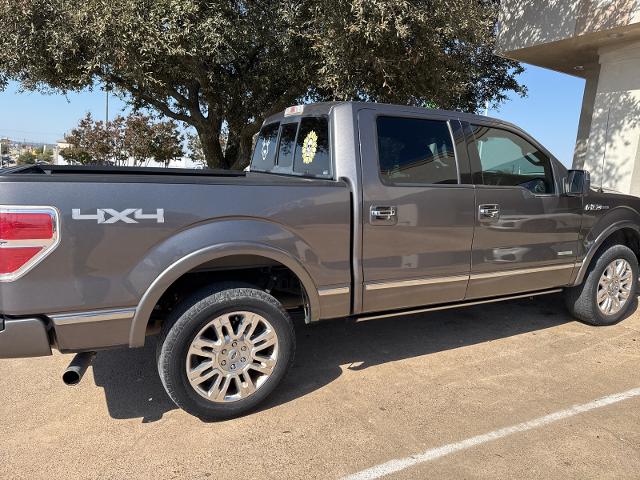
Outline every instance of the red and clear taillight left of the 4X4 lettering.
{"label": "red and clear taillight left of the 4X4 lettering", "polygon": [[56,248],[58,222],[52,207],[0,207],[0,281],[16,280]]}

